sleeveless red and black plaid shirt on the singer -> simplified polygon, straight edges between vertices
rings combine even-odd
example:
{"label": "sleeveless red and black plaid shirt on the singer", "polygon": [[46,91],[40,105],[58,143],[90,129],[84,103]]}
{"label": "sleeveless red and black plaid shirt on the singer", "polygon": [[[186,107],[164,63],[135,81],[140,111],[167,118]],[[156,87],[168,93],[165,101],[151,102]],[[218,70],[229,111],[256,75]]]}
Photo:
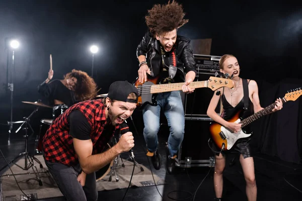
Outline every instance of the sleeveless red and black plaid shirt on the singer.
{"label": "sleeveless red and black plaid shirt on the singer", "polygon": [[75,104],[55,119],[43,137],[44,156],[49,162],[59,162],[68,166],[79,162],[72,136],[69,135],[68,116],[73,110],[82,112],[91,126],[93,154],[101,153],[113,136],[115,127],[106,121],[105,106],[101,99]]}

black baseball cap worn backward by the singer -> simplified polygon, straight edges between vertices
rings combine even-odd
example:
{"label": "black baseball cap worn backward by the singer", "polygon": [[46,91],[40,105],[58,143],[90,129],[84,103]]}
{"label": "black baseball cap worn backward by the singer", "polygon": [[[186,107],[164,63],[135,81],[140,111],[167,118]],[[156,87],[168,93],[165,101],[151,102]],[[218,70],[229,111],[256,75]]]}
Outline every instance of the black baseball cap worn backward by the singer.
{"label": "black baseball cap worn backward by the singer", "polygon": [[[131,92],[136,94],[136,99],[128,98],[128,95]],[[136,104],[138,98],[138,90],[133,84],[127,81],[115,81],[110,85],[107,97],[113,100]]]}

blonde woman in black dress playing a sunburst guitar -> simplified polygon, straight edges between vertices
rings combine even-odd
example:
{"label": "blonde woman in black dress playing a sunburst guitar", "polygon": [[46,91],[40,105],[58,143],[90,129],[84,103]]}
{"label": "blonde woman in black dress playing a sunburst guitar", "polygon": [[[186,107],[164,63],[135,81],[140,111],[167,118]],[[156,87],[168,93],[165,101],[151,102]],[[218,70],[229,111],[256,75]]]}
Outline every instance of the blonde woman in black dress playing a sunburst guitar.
{"label": "blonde woman in black dress playing a sunburst guitar", "polygon": [[[258,96],[258,86],[255,80],[242,79],[239,77],[240,67],[238,61],[233,55],[223,55],[219,61],[220,72],[228,73],[235,83],[233,89],[223,87],[221,92],[214,93],[208,106],[207,115],[218,124],[234,133],[241,131],[241,125],[235,122],[228,122],[234,115],[241,112],[241,117],[249,117],[254,113],[262,110]],[[223,111],[221,115],[217,115],[215,108],[219,103],[221,96]],[[248,98],[247,98],[248,96]],[[282,109],[281,99],[276,99],[275,108],[272,112]],[[245,127],[246,128],[246,127]],[[254,160],[251,156],[249,145],[250,138],[243,138],[236,142],[234,149],[240,154],[240,163],[246,180],[246,193],[248,200],[256,200],[257,186],[255,180]],[[215,147],[215,144],[212,144]],[[221,149],[222,150],[222,149]],[[225,167],[225,154],[227,152],[220,151],[217,148],[215,156],[215,172],[214,172],[214,190],[216,198],[214,200],[222,200],[223,178],[222,172]]]}

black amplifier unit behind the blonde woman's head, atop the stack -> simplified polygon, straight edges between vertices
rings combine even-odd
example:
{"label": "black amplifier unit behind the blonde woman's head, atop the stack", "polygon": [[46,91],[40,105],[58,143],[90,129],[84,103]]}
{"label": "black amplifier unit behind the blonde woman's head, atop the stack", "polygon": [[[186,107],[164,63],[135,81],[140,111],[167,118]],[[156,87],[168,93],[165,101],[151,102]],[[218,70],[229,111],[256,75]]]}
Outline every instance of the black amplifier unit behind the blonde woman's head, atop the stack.
{"label": "black amplifier unit behind the blonde woman's head, atop the stack", "polygon": [[221,56],[193,54],[197,71],[219,71],[219,59]]}

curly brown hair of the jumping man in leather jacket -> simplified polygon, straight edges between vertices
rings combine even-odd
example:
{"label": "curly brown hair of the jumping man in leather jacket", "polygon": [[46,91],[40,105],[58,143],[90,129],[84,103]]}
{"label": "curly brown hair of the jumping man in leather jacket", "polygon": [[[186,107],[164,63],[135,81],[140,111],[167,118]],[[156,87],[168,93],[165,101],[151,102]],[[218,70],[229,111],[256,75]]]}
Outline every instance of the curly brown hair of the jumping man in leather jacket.
{"label": "curly brown hair of the jumping man in leather jacket", "polygon": [[154,5],[152,9],[148,10],[145,20],[147,27],[155,37],[156,34],[170,32],[186,24],[189,20],[185,20],[184,17],[182,5],[169,1],[167,5]]}

